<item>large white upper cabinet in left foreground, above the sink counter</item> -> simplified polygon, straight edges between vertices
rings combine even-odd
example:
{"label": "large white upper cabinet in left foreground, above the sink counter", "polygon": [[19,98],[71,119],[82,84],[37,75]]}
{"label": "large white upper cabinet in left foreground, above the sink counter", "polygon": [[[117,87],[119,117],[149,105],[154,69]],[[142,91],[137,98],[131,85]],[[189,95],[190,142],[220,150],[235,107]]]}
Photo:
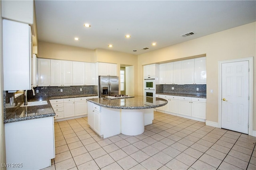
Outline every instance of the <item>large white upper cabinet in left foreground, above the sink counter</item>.
{"label": "large white upper cabinet in left foreground, above the sink counter", "polygon": [[30,90],[32,35],[28,24],[3,20],[4,90]]}

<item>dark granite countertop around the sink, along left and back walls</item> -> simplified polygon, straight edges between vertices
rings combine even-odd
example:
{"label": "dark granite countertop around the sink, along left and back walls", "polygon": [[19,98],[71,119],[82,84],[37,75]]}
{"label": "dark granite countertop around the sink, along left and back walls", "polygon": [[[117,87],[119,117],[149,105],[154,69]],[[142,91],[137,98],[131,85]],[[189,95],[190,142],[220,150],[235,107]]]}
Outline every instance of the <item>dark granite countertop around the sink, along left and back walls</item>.
{"label": "dark granite countertop around the sink, along left and back walls", "polygon": [[70,96],[52,96],[48,98],[47,97],[31,98],[31,99],[28,99],[28,102],[46,100],[48,104],[39,105],[39,106],[20,107],[23,103],[19,103],[17,104],[17,106],[13,106],[13,107],[4,106],[4,109],[6,110],[4,123],[11,123],[16,121],[24,121],[24,120],[30,120],[30,119],[38,119],[43,117],[55,116],[55,113],[52,109],[52,106],[49,100],[60,99],[60,98],[79,98],[79,97],[89,97],[89,96],[98,96],[98,94],[81,94],[81,95],[70,95]]}

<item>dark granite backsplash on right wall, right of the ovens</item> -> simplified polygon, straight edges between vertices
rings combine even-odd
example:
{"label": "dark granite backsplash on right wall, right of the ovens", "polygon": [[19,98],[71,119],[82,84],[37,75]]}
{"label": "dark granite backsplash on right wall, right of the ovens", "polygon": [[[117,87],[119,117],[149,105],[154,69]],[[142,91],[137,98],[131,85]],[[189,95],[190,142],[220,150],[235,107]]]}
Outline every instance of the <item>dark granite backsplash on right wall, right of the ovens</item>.
{"label": "dark granite backsplash on right wall, right of the ovens", "polygon": [[156,93],[206,94],[206,84],[156,84]]}

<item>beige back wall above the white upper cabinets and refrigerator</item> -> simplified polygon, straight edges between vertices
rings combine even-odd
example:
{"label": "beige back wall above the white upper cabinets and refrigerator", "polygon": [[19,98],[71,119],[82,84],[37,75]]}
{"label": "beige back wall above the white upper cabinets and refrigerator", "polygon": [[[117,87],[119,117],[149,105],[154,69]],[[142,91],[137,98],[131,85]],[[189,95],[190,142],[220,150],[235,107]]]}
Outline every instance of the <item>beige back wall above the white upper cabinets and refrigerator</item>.
{"label": "beige back wall above the white upper cabinets and refrigerator", "polygon": [[[130,76],[134,78],[134,82],[129,82],[130,86],[134,86],[133,94],[138,93],[138,60],[137,55],[128,53],[121,53],[118,51],[111,51],[105,49],[85,49],[80,47],[72,47],[68,45],[61,45],[55,43],[38,42],[38,55],[39,58],[47,59],[60,59],[70,61],[83,61],[83,62],[103,62],[103,63],[116,63],[118,64],[118,72],[120,72],[120,66],[133,66],[134,70],[130,70]],[[129,74],[129,73],[128,73]],[[132,74],[132,75],[131,75]],[[129,86],[129,84],[127,84]]]}

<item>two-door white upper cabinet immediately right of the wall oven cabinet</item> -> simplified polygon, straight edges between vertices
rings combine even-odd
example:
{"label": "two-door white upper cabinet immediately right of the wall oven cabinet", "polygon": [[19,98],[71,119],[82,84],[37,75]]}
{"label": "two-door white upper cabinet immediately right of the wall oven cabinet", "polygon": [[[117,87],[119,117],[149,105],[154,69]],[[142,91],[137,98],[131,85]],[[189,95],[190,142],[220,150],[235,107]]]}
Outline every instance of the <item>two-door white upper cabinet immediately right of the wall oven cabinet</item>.
{"label": "two-door white upper cabinet immediately right of the wall oven cabinet", "polygon": [[159,64],[159,84],[174,84],[173,62]]}

